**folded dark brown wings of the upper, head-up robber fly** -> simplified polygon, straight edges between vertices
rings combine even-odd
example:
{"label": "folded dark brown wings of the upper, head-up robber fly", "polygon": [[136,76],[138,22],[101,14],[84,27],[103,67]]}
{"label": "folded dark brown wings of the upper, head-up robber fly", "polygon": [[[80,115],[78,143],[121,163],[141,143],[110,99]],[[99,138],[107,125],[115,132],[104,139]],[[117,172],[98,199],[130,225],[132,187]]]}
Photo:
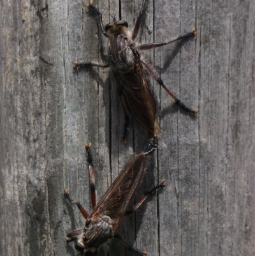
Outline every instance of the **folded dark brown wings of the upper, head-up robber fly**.
{"label": "folded dark brown wings of the upper, head-up robber fly", "polygon": [[135,57],[133,72],[114,72],[120,87],[120,100],[137,121],[143,137],[150,139],[159,134],[156,117],[156,103],[147,83],[140,57]]}

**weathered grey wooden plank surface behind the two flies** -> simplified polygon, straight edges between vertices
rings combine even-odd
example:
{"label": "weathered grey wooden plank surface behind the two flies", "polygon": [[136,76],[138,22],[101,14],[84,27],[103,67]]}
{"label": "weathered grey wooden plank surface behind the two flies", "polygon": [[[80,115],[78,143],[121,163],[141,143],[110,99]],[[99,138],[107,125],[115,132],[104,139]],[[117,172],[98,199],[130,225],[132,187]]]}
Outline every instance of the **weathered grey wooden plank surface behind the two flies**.
{"label": "weathered grey wooden plank surface behind the two flies", "polygon": [[[124,117],[109,71],[73,72],[74,60],[107,61],[85,4],[1,1],[0,255],[76,255],[64,237],[84,218],[61,193],[91,211],[84,143],[93,145],[98,199],[146,147],[135,125],[120,144]],[[120,13],[132,28],[142,0],[94,4],[104,24]],[[149,0],[143,43],[198,29],[145,58],[200,112],[187,115],[149,78],[161,135],[138,195],[161,178],[167,186],[119,227],[148,255],[255,255],[254,13],[253,0]],[[112,239],[110,255],[131,252]]]}

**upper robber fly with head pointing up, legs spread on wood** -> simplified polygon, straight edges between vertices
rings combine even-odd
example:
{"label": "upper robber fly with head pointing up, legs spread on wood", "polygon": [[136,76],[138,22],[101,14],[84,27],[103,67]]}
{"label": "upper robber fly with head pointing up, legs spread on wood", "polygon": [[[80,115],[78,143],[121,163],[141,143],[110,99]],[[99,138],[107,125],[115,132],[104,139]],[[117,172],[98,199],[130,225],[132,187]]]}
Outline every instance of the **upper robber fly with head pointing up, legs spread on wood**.
{"label": "upper robber fly with head pointing up, legs spread on wood", "polygon": [[128,22],[124,20],[117,21],[115,17],[113,17],[113,22],[106,24],[104,28],[101,13],[92,4],[92,0],[90,0],[86,7],[98,15],[101,31],[109,39],[108,64],[77,63],[77,61],[74,63],[74,69],[85,66],[99,66],[101,68],[110,66],[112,69],[113,75],[119,86],[120,105],[122,106],[125,116],[124,132],[122,136],[122,143],[124,144],[127,142],[129,114],[135,118],[143,137],[151,139],[159,134],[159,123],[156,117],[156,103],[148,86],[144,69],[152,75],[157,83],[170,94],[180,107],[194,116],[198,113],[198,109],[192,110],[184,105],[184,103],[180,102],[170,89],[164,85],[163,80],[156,70],[140,57],[140,50],[161,47],[163,45],[168,45],[173,41],[181,40],[189,36],[195,36],[196,29],[193,29],[191,33],[184,34],[183,36],[179,36],[166,43],[146,43],[143,45],[136,45],[135,39],[145,10],[145,2],[147,1],[148,0],[143,0],[135,28],[131,33],[128,30]]}

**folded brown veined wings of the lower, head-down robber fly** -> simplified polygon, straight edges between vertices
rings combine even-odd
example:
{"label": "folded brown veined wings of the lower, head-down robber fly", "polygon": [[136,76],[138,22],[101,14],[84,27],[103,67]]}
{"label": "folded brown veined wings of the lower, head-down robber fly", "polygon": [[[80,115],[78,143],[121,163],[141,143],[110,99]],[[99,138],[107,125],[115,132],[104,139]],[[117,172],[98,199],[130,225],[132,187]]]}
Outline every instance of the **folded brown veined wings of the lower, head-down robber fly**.
{"label": "folded brown veined wings of the lower, head-down robber fly", "polygon": [[112,183],[98,206],[94,208],[87,222],[107,215],[112,219],[113,232],[115,232],[142,182],[149,160],[150,156],[145,154],[139,154],[131,160]]}

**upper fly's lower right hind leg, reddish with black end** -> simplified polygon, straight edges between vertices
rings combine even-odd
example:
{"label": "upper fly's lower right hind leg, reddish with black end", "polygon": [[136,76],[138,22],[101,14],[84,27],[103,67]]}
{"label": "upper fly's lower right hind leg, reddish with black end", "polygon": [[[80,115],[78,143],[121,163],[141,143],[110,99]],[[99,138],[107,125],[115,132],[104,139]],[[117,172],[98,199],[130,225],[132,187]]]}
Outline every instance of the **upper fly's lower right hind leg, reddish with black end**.
{"label": "upper fly's lower right hind leg, reddish with black end", "polygon": [[180,107],[182,107],[182,109],[185,109],[188,113],[193,114],[193,116],[196,116],[198,114],[198,109],[191,109],[190,107],[187,107],[183,102],[181,102],[179,100],[179,98],[177,98],[175,96],[175,94],[173,94],[170,89],[168,89],[168,87],[166,87],[164,85],[163,80],[161,79],[161,77],[159,76],[159,74],[156,72],[156,70],[154,68],[152,68],[152,66],[150,66],[150,64],[146,63],[145,61],[142,61],[143,66],[145,67],[146,70],[148,70],[148,72],[150,73],[150,75],[156,80],[156,82],[162,86],[166,92],[173,98],[173,100],[175,101],[175,103],[177,103],[177,105],[179,105]]}

